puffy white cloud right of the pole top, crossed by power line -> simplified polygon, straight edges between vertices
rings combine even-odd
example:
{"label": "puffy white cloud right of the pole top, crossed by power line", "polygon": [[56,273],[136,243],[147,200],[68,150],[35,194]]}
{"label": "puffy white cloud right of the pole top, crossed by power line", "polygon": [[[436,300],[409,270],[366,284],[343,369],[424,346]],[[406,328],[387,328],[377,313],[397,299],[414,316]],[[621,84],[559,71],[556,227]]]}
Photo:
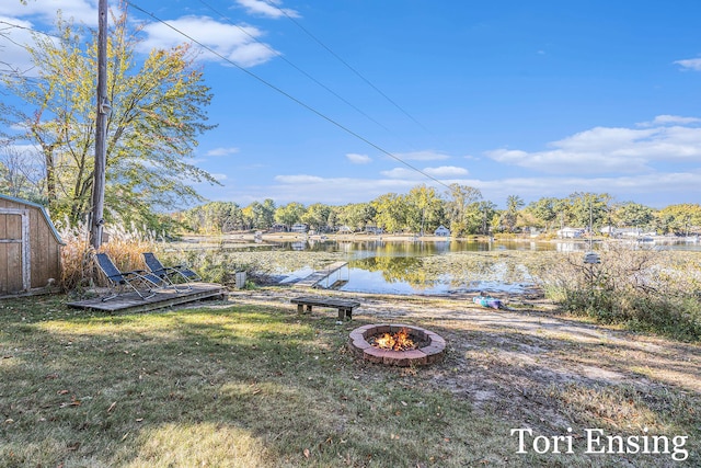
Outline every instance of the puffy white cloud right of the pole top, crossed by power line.
{"label": "puffy white cloud right of the pole top, crossed by power line", "polygon": [[205,60],[227,59],[240,67],[253,67],[277,55],[272,47],[257,42],[263,33],[253,26],[225,24],[208,16],[183,16],[168,24],[173,28],[163,23],[147,24],[143,31],[148,38],[139,44],[139,50],[168,49],[188,42],[182,32],[214,52],[203,49],[200,59]]}

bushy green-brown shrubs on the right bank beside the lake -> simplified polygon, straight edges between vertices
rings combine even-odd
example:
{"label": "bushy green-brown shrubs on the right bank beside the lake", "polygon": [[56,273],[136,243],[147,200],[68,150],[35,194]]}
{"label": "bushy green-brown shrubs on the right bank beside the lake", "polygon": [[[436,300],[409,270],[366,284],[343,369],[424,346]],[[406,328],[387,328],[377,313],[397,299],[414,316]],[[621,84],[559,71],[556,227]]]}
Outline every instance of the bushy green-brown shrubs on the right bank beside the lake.
{"label": "bushy green-brown shrubs on the right bank beside the lake", "polygon": [[701,340],[701,254],[610,242],[601,263],[560,256],[540,276],[549,298],[602,323]]}

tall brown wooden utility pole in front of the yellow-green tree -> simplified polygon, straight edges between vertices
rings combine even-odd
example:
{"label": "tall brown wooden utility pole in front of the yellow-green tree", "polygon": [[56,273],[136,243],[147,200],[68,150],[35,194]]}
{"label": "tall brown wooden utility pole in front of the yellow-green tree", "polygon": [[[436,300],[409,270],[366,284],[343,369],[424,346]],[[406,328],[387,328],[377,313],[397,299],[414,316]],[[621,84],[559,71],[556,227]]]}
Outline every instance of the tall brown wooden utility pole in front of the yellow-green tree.
{"label": "tall brown wooden utility pole in front of the yellow-green tree", "polygon": [[95,121],[95,180],[92,186],[92,216],[90,217],[90,243],[95,249],[102,244],[104,224],[105,170],[107,165],[107,0],[97,3],[97,113]]}

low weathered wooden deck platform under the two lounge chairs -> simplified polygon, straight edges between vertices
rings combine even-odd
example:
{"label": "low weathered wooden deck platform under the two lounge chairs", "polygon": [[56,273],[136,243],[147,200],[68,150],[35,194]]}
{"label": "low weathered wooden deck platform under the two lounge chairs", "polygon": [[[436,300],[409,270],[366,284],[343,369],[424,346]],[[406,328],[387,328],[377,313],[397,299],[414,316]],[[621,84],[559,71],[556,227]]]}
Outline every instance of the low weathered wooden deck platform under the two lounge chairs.
{"label": "low weathered wooden deck platform under the two lounge chairs", "polygon": [[136,293],[120,294],[119,296],[103,301],[102,298],[78,300],[67,305],[77,309],[101,310],[104,312],[142,312],[147,310],[161,309],[180,304],[194,303],[196,300],[227,294],[227,289],[212,283],[193,283],[191,290],[175,292],[172,288],[160,289],[153,297],[141,299]]}

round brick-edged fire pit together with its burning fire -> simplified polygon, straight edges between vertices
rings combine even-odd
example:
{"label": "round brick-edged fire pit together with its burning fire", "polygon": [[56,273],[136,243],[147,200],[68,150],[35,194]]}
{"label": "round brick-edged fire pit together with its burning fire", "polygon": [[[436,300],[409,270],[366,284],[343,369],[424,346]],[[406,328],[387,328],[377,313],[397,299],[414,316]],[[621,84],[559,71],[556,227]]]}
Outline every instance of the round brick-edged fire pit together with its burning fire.
{"label": "round brick-edged fire pit together with its burning fire", "polygon": [[418,327],[367,324],[348,336],[348,345],[364,359],[392,366],[421,366],[443,358],[446,341]]}

